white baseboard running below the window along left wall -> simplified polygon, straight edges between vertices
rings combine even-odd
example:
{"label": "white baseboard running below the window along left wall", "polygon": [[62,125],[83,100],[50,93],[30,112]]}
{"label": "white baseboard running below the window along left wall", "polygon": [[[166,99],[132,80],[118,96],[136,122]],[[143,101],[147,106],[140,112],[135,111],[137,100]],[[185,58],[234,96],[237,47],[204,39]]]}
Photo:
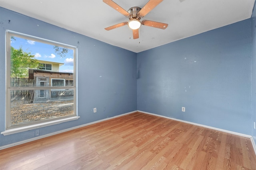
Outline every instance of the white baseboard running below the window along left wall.
{"label": "white baseboard running below the window along left wall", "polygon": [[128,113],[124,113],[124,114],[121,114],[121,115],[116,115],[116,116],[114,116],[114,117],[108,117],[108,118],[106,118],[106,119],[101,119],[101,120],[98,120],[98,121],[86,123],[86,124],[84,124],[84,125],[79,125],[79,126],[71,127],[71,128],[68,128],[68,129],[61,130],[61,131],[49,133],[49,134],[46,134],[46,135],[34,137],[34,138],[27,139],[27,140],[24,140],[24,141],[20,141],[20,142],[16,142],[16,143],[11,143],[11,144],[9,144],[9,145],[4,145],[4,146],[0,147],[0,150],[6,149],[6,148],[10,148],[10,147],[14,147],[14,146],[17,146],[17,145],[21,145],[21,144],[24,144],[24,143],[36,141],[36,140],[38,140],[38,139],[42,139],[42,138],[49,137],[49,136],[52,136],[52,135],[56,135],[56,134],[59,134],[59,133],[63,133],[63,132],[66,132],[66,131],[71,131],[71,130],[74,130],[74,129],[78,129],[78,128],[80,128],[80,127],[85,127],[85,126],[88,126],[88,125],[92,125],[92,124],[94,124],[94,123],[99,123],[99,122],[101,122],[101,121],[106,121],[106,120],[109,120],[109,119],[114,119],[114,118],[116,118],[116,117],[128,115],[128,114],[135,113],[135,112],[137,112],[137,110],[136,110],[136,111],[131,111],[131,112],[128,112]]}

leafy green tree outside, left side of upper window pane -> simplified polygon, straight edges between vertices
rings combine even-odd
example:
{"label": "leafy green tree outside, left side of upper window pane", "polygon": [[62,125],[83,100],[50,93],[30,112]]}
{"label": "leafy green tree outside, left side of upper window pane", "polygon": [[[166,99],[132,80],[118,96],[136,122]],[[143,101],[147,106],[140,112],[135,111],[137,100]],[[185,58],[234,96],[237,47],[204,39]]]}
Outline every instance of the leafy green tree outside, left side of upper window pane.
{"label": "leafy green tree outside, left side of upper window pane", "polygon": [[21,47],[11,47],[11,77],[27,78],[29,68],[39,68],[39,62],[34,55],[24,52]]}

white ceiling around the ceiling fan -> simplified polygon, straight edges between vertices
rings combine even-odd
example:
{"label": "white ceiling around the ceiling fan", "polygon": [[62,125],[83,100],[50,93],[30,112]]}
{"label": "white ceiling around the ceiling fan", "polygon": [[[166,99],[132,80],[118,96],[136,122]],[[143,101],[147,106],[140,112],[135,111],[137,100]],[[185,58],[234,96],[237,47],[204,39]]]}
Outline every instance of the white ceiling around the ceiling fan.
{"label": "white ceiling around the ceiling fan", "polygon": [[[114,0],[128,10],[148,0]],[[128,18],[102,0],[0,0],[0,6],[136,53],[251,17],[255,0],[164,0],[142,20],[168,23],[166,29],[142,25],[139,39]]]}

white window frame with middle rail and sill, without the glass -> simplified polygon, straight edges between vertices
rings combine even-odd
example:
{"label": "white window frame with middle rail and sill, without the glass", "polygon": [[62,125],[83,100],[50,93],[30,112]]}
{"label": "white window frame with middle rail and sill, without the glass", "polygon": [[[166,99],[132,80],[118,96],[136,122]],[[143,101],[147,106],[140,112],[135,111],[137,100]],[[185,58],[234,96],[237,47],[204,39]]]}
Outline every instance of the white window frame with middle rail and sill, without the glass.
{"label": "white window frame with middle rail and sill, without the glass", "polygon": [[[10,49],[11,49],[11,36],[14,37],[20,37],[23,39],[28,39],[32,41],[37,41],[41,43],[47,43],[50,45],[57,45],[59,47],[64,47],[68,49],[73,49],[74,51],[74,73],[73,73],[73,86],[66,86],[68,89],[73,89],[74,90],[74,115],[69,115],[66,117],[58,117],[54,119],[48,119],[48,120],[43,120],[43,121],[36,121],[33,123],[28,123],[28,124],[22,124],[22,125],[14,125],[11,126],[11,119],[10,119],[10,91],[11,90],[58,90],[58,89],[63,89],[63,86],[44,86],[44,87],[37,87],[37,86],[32,86],[32,87],[11,87],[10,84]],[[72,121],[76,120],[79,118],[78,113],[77,113],[77,87],[76,87],[76,82],[77,82],[77,64],[76,64],[76,58],[77,58],[77,47],[72,46],[72,45],[67,45],[63,43],[58,43],[55,41],[51,41],[48,39],[42,39],[39,37],[34,37],[31,35],[23,34],[23,33],[18,33],[15,31],[10,31],[6,30],[6,124],[5,124],[5,131],[2,131],[1,134],[3,135],[10,135],[14,133],[19,133],[22,131],[28,131],[40,127],[46,127],[49,125],[55,125],[58,123],[66,122],[66,121]],[[65,83],[65,80],[64,80]]]}

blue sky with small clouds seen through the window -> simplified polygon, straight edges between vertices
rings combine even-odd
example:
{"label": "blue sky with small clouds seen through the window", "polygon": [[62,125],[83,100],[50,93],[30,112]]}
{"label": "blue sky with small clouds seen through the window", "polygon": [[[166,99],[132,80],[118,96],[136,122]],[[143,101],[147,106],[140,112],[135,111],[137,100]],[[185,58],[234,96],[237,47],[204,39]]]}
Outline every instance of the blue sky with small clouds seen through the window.
{"label": "blue sky with small clouds seen through the window", "polygon": [[74,72],[74,57],[72,49],[70,49],[68,53],[66,53],[66,56],[62,58],[60,55],[55,53],[53,45],[18,37],[14,38],[15,40],[11,41],[11,46],[15,49],[22,47],[23,51],[30,52],[37,60],[64,63],[64,65],[60,66],[60,72]]}

